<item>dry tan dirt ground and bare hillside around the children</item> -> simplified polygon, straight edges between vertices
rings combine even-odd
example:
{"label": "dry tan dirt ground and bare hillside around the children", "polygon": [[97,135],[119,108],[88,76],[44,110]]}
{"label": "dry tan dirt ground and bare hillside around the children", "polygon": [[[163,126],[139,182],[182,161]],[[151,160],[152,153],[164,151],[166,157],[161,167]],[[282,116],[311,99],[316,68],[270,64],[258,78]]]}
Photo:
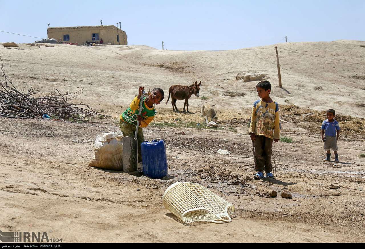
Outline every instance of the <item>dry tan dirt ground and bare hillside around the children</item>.
{"label": "dry tan dirt ground and bare hillside around the children", "polygon": [[[365,48],[360,45],[364,42],[277,44],[364,63]],[[148,49],[146,46],[52,46],[20,44],[19,49],[6,49],[0,45],[5,70],[16,86],[41,86],[43,92],[55,87],[83,88],[78,100],[103,109],[114,121],[0,118],[2,231],[46,231],[64,242],[365,242],[363,132],[341,137],[341,162],[326,163],[319,131],[314,133],[306,129],[306,122],[283,117],[287,122],[282,123],[281,136],[293,142],[273,146],[276,179],[245,179],[253,175],[254,162],[244,120],[258,98],[254,92],[257,82],[243,83],[235,76],[240,71],[262,72],[274,86],[274,50],[184,52],[127,49]],[[320,111],[331,107],[342,115],[365,117],[361,107],[364,66],[280,53],[286,91],[274,86],[272,94],[280,106],[296,104]],[[170,103],[160,104],[155,125],[144,129],[146,140],[165,139],[173,179],[88,167],[96,136],[119,130],[118,115],[139,85],[161,87],[167,93],[172,84],[196,80],[203,82],[200,95],[208,100],[193,96],[190,114],[173,113]],[[324,90],[314,90],[316,86]],[[224,96],[224,91],[245,95]],[[224,129],[162,123],[168,120],[171,124],[176,116],[187,122],[202,120],[199,114],[204,102],[215,104]],[[182,105],[177,102],[181,109]],[[178,134],[180,131],[185,135]],[[224,148],[229,155],[216,153]],[[232,203],[232,222],[178,222],[162,205],[164,191],[178,181],[200,183]],[[341,187],[330,189],[336,182]],[[261,197],[256,194],[258,187],[276,190],[278,197]],[[290,191],[293,198],[282,198],[283,190]]]}

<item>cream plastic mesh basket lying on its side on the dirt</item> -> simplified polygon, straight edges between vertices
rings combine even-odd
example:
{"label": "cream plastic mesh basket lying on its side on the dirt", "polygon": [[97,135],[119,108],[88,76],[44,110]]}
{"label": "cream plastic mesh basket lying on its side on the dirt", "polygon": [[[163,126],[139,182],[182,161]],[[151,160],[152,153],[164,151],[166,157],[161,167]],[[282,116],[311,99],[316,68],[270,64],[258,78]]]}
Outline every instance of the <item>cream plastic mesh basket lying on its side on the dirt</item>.
{"label": "cream plastic mesh basket lying on its side on the dirt", "polygon": [[162,197],[165,208],[185,223],[231,222],[234,206],[206,187],[193,182],[176,182]]}

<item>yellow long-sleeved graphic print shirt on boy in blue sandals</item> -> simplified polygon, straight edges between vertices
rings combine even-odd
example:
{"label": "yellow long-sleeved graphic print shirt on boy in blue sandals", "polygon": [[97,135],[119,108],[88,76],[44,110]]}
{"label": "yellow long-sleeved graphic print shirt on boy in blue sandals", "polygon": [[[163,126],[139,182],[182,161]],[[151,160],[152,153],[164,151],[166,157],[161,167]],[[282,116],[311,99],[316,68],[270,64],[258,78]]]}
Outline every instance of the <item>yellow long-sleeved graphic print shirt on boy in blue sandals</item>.
{"label": "yellow long-sleeved graphic print shirt on boy in blue sandals", "polygon": [[279,105],[257,100],[252,107],[249,133],[268,138],[280,138]]}

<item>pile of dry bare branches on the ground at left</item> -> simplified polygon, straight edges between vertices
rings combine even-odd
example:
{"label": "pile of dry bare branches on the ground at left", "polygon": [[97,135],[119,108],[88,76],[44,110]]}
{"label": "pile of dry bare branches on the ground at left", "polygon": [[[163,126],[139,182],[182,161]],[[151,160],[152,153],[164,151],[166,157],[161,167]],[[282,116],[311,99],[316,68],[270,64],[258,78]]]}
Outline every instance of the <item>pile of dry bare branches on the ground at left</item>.
{"label": "pile of dry bare branches on the ground at left", "polygon": [[[1,60],[1,56],[0,56]],[[42,118],[47,114],[55,119],[74,120],[77,122],[92,122],[92,115],[110,118],[98,113],[87,104],[70,103],[70,100],[77,97],[77,92],[62,93],[55,88],[47,95],[41,95],[41,87],[31,87],[28,90],[19,91],[9,79],[1,60],[0,72],[0,116],[8,118]]]}

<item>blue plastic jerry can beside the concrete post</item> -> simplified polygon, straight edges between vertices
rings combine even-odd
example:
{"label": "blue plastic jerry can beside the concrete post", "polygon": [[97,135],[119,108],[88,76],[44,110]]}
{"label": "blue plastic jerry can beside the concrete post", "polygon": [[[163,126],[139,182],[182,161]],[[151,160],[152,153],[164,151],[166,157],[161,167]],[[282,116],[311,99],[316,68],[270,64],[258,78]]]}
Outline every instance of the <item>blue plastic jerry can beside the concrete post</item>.
{"label": "blue plastic jerry can beside the concrete post", "polygon": [[151,178],[162,178],[168,173],[165,140],[152,140],[141,145],[143,174]]}

